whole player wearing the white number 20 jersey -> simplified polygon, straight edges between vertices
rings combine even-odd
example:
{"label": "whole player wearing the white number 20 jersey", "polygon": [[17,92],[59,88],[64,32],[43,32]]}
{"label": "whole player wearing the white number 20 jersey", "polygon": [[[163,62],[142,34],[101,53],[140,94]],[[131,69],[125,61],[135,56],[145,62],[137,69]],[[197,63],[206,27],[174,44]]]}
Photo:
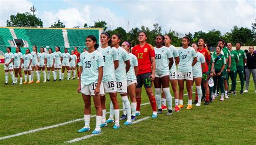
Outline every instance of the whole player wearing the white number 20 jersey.
{"label": "whole player wearing the white number 20 jersey", "polygon": [[156,77],[154,78],[154,90],[156,92],[156,102],[158,107],[158,114],[162,113],[161,108],[161,87],[166,96],[168,105],[168,112],[166,115],[172,115],[172,95],[170,93],[170,73],[169,68],[173,65],[173,55],[170,49],[164,46],[164,36],[158,35],[156,37],[154,47],[155,59],[156,59]]}

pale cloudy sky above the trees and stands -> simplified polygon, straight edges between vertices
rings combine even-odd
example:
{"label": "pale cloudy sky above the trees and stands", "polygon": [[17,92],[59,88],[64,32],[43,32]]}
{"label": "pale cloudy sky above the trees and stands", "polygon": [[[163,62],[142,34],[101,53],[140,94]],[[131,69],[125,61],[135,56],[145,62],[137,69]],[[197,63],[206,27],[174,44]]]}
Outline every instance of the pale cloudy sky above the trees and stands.
{"label": "pale cloudy sky above the trees and stands", "polygon": [[83,27],[84,23],[92,26],[95,21],[105,20],[111,29],[121,26],[126,31],[142,25],[152,29],[158,23],[163,33],[170,29],[183,34],[212,29],[226,33],[235,25],[251,29],[256,19],[256,0],[0,0],[0,26],[6,26],[10,15],[27,12],[32,5],[44,27],[58,19],[66,27]]}

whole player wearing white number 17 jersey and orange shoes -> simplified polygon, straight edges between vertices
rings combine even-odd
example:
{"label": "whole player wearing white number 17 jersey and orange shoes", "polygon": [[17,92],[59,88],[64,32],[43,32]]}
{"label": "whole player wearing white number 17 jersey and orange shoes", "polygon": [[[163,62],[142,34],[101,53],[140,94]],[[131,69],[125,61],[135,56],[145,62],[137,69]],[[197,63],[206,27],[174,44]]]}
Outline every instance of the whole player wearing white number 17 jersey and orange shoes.
{"label": "whole player wearing white number 17 jersey and orange shoes", "polygon": [[192,66],[197,63],[196,51],[190,46],[190,39],[188,37],[182,38],[182,47],[179,52],[179,66],[178,66],[178,84],[179,84],[179,108],[183,108],[183,95],[184,95],[184,81],[186,81],[186,88],[188,93],[187,109],[192,109],[192,83],[193,73]]}

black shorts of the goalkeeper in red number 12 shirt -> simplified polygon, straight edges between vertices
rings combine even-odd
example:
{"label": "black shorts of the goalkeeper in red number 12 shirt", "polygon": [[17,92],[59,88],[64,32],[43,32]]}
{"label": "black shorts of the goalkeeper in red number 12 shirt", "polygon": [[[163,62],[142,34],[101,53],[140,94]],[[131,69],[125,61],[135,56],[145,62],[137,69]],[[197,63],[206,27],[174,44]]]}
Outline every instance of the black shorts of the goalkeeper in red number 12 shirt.
{"label": "black shorts of the goalkeeper in red number 12 shirt", "polygon": [[151,73],[144,73],[144,74],[138,74],[137,75],[137,86],[136,88],[141,88],[142,85],[144,85],[145,88],[151,88],[152,87],[152,81],[151,78],[149,78]]}

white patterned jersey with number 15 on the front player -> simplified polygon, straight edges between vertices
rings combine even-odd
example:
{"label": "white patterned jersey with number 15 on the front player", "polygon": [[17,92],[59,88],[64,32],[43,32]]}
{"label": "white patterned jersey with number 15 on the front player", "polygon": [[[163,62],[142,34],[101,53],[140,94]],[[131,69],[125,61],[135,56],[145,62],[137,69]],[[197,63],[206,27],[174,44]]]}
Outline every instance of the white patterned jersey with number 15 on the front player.
{"label": "white patterned jersey with number 15 on the front player", "polygon": [[103,56],[99,51],[92,53],[84,52],[80,55],[79,66],[83,67],[81,82],[84,85],[90,85],[98,81],[99,67],[104,66]]}

